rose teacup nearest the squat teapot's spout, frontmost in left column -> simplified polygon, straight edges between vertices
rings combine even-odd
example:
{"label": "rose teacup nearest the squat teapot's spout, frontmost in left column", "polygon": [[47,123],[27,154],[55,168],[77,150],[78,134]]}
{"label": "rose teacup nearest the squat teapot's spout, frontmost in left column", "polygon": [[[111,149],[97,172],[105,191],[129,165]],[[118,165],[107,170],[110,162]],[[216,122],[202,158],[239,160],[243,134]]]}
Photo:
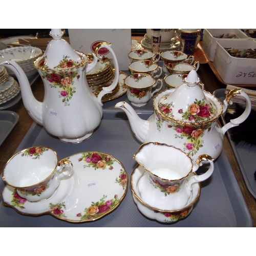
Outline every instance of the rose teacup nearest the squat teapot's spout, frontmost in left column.
{"label": "rose teacup nearest the squat teapot's spout, frontmost in left column", "polygon": [[[124,84],[127,88],[127,98],[134,106],[144,106],[163,86],[162,79],[155,80],[154,77],[144,73],[135,73],[126,76]],[[152,92],[153,88],[160,86]]]}

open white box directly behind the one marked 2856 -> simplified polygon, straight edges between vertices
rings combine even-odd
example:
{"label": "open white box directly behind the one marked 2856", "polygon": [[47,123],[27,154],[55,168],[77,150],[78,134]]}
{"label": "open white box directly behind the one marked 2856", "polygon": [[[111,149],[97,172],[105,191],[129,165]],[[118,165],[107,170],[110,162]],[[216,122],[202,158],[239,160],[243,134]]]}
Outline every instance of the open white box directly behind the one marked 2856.
{"label": "open white box directly behind the one marked 2856", "polygon": [[249,37],[240,29],[204,29],[202,48],[210,61],[214,61],[217,41],[230,40],[226,38],[216,38],[215,36],[219,36],[223,34],[226,35],[227,33],[236,35],[236,37],[232,38],[231,40],[233,39],[248,40],[249,39]]}

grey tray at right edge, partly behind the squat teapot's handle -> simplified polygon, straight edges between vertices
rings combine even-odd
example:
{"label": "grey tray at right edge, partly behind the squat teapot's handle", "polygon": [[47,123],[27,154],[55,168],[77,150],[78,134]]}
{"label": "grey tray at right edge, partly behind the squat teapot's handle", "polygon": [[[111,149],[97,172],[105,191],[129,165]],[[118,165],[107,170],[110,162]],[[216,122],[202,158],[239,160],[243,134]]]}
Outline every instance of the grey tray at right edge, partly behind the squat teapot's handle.
{"label": "grey tray at right edge, partly behind the squat teapot's handle", "polygon": [[[221,102],[225,99],[225,89],[218,89],[214,95],[220,99]],[[221,116],[222,122],[225,124],[225,114]],[[231,140],[230,133],[227,131],[227,136],[231,144],[234,155],[237,158],[239,167],[244,177],[245,184],[251,195],[256,199],[256,181],[254,180],[254,172],[256,170],[256,146],[245,144],[243,142],[237,145]]]}

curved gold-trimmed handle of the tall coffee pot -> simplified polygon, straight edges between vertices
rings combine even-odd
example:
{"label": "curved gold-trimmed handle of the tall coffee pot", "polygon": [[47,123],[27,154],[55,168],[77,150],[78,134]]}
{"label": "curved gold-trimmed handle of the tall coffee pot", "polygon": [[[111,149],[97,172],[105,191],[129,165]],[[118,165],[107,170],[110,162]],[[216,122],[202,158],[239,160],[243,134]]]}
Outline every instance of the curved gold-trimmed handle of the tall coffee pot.
{"label": "curved gold-trimmed handle of the tall coffee pot", "polygon": [[95,55],[98,57],[98,58],[102,58],[101,55],[99,55],[98,51],[99,49],[101,48],[106,48],[108,49],[112,56],[113,56],[113,60],[114,60],[114,68],[115,68],[115,77],[114,77],[114,80],[111,84],[111,86],[109,87],[103,87],[102,90],[100,91],[97,99],[99,101],[99,103],[101,105],[103,105],[103,103],[101,102],[101,99],[102,97],[105,95],[105,94],[108,94],[108,93],[112,93],[112,91],[115,89],[116,85],[117,85],[117,82],[118,82],[118,78],[119,78],[119,67],[118,67],[118,62],[117,62],[117,58],[116,58],[116,55],[115,55],[115,52],[113,51],[113,49],[111,48],[111,43],[110,42],[100,42],[94,49],[94,53]]}

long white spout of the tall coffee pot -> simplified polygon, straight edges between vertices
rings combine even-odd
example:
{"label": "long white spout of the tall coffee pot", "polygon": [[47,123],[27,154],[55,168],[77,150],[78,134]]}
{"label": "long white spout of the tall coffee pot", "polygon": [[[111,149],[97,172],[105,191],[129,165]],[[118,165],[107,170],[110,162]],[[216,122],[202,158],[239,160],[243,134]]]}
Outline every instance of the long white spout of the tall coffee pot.
{"label": "long white spout of the tall coffee pot", "polygon": [[23,69],[13,60],[5,60],[0,63],[10,69],[17,77],[22,93],[23,104],[27,109],[29,115],[39,124],[42,125],[42,103],[34,97],[29,80],[24,73]]}

